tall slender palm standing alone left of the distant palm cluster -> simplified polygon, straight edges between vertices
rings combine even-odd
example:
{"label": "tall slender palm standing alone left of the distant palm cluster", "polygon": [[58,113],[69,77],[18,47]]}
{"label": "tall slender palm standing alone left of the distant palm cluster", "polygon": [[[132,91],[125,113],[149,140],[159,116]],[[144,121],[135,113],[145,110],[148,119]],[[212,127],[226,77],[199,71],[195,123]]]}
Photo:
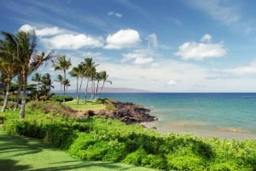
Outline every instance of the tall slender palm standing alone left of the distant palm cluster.
{"label": "tall slender palm standing alone left of the distant palm cluster", "polygon": [[[68,59],[66,60],[66,56],[62,55],[61,57],[59,57],[54,63],[53,63],[53,67],[56,70],[60,70],[63,71],[63,80],[64,82],[66,81],[66,72],[69,69],[69,67],[72,66],[71,60]],[[63,103],[65,104],[65,98],[66,98],[66,86],[64,85],[64,98],[63,98]]]}

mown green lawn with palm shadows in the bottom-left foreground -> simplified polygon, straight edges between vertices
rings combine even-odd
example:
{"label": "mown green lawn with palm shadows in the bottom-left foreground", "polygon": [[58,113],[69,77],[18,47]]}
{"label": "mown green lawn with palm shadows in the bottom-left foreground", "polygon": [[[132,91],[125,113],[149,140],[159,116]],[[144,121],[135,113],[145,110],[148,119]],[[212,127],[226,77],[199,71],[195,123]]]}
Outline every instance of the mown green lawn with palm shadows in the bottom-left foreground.
{"label": "mown green lawn with palm shadows in the bottom-left foreground", "polygon": [[3,134],[3,126],[0,125],[0,170],[154,171],[155,169],[115,162],[80,161],[44,140]]}

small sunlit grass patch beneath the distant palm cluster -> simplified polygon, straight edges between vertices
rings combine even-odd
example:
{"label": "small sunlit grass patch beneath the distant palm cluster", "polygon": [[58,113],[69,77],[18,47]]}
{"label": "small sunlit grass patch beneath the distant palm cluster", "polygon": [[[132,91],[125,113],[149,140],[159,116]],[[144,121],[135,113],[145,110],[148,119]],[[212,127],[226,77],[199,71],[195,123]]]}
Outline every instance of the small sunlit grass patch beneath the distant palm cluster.
{"label": "small sunlit grass patch beneath the distant palm cluster", "polygon": [[86,105],[84,100],[79,100],[79,105],[77,105],[77,100],[67,101],[66,105],[69,105],[75,110],[100,110],[105,109],[105,105],[96,102],[95,100],[87,100]]}

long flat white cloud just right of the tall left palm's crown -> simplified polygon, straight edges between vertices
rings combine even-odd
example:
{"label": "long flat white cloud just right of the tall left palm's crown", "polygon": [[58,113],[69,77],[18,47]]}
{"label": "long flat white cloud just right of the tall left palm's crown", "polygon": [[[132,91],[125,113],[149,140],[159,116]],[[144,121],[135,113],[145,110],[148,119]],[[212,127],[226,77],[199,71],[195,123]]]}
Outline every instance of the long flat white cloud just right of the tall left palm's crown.
{"label": "long flat white cloud just right of the tall left palm's crown", "polygon": [[85,34],[61,34],[55,37],[41,39],[46,47],[55,49],[79,49],[79,48],[99,48],[103,46],[102,37],[90,37]]}

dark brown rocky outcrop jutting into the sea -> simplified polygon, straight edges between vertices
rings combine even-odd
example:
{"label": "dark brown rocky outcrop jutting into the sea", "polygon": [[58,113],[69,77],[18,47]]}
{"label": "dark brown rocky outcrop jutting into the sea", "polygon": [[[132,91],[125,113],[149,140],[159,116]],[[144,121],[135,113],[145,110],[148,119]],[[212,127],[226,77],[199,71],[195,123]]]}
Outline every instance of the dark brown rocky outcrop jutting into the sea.
{"label": "dark brown rocky outcrop jutting into the sea", "polygon": [[123,103],[119,101],[108,101],[108,105],[113,105],[115,110],[99,110],[99,111],[87,111],[87,115],[108,117],[113,119],[119,119],[120,121],[133,124],[133,123],[145,123],[158,120],[157,117],[151,116],[149,113],[151,110],[144,108],[143,105],[137,105],[133,103]]}

